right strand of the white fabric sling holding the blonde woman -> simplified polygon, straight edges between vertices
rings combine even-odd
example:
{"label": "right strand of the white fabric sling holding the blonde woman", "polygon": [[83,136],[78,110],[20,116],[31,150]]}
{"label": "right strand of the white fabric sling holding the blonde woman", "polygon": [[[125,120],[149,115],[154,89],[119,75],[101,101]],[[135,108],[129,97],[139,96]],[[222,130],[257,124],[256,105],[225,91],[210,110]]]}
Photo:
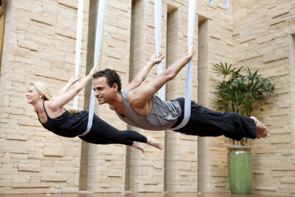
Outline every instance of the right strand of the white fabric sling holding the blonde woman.
{"label": "right strand of the white fabric sling holding the blonde woman", "polygon": [[[99,61],[102,28],[103,28],[103,24],[104,24],[104,5],[105,5],[105,0],[99,0],[98,13],[97,13],[97,23],[96,23],[94,65],[93,66],[95,66]],[[92,89],[93,89],[93,83],[92,83],[92,87],[91,87],[87,130],[83,134],[78,135],[78,136],[86,135],[92,127],[92,120],[93,120],[93,115],[94,115],[94,103],[95,103],[94,91],[92,91]]]}

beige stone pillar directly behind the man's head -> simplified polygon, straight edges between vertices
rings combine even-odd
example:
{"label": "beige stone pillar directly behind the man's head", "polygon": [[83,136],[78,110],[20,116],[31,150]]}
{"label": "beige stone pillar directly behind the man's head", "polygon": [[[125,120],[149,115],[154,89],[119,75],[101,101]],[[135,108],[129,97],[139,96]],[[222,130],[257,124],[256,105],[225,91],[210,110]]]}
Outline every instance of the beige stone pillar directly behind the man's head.
{"label": "beige stone pillar directly behind the man's head", "polygon": [[[89,40],[87,70],[93,68],[94,41],[96,32],[98,1],[91,1],[89,18]],[[129,79],[130,51],[130,1],[105,1],[104,24],[99,57],[99,68],[110,68],[121,76],[122,84]],[[87,88],[87,87],[86,87]],[[85,100],[89,101],[91,84]],[[86,106],[89,106],[87,102]],[[88,109],[88,107],[86,108]],[[126,130],[122,122],[107,104],[99,105],[96,101],[94,110],[101,119],[119,130]],[[88,151],[88,152],[87,152]],[[125,190],[126,146],[120,144],[85,146],[83,164],[87,164],[86,190],[91,192],[123,192]],[[84,166],[85,167],[85,166]],[[85,184],[84,184],[85,185]]]}

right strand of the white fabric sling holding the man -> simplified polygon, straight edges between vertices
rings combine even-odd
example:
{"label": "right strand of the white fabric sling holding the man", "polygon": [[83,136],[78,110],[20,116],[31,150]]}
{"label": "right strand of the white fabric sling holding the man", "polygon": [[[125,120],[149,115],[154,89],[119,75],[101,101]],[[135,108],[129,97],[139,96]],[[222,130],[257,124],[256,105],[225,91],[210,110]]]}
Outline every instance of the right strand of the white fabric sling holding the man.
{"label": "right strand of the white fabric sling holding the man", "polygon": [[[189,0],[189,19],[188,19],[188,37],[187,46],[191,47],[194,38],[195,17],[196,17],[196,0]],[[186,84],[185,84],[185,103],[184,103],[184,118],[182,122],[174,128],[169,130],[176,130],[184,127],[191,116],[191,86],[192,86],[192,60],[187,65],[186,70]],[[183,113],[183,112],[182,112]]]}

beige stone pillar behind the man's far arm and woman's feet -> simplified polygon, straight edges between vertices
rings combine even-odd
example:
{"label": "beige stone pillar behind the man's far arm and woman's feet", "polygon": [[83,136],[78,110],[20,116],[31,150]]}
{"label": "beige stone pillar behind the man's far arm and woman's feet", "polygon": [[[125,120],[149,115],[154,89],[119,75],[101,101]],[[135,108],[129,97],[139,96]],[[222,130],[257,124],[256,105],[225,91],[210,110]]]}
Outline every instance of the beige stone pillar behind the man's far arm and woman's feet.
{"label": "beige stone pillar behind the man's far arm and woman's feet", "polygon": [[[137,0],[134,3],[134,37],[133,55],[131,55],[132,68],[130,70],[134,77],[140,69],[148,62],[150,56],[155,53],[155,22],[153,1]],[[165,13],[165,6],[163,12]],[[162,21],[161,50],[165,51],[165,17]],[[163,60],[165,65],[165,59]],[[150,81],[157,76],[157,65],[152,68],[145,81]],[[145,82],[143,82],[144,84]],[[135,127],[131,129],[145,136],[152,136],[164,142],[164,131],[144,131]],[[145,154],[130,148],[130,174],[129,190],[133,192],[161,192],[164,182],[164,151],[145,145]]]}

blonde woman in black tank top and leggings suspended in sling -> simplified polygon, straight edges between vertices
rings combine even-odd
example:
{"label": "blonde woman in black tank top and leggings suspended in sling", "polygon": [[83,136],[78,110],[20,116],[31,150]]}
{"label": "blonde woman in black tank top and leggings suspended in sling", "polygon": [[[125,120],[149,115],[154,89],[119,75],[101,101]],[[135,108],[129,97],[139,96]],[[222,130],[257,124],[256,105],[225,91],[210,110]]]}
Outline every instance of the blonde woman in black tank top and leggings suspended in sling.
{"label": "blonde woman in black tank top and leggings suspended in sling", "polygon": [[[76,137],[86,131],[88,124],[88,111],[78,112],[66,110],[63,106],[71,101],[90,81],[93,74],[98,72],[96,65],[91,69],[89,75],[81,80],[78,85],[68,91],[76,81],[80,80],[71,77],[70,81],[53,98],[48,86],[42,82],[32,83],[26,93],[27,101],[34,106],[38,120],[42,126],[63,137]],[[148,136],[145,137],[132,130],[119,131],[101,120],[94,114],[91,130],[83,136],[82,140],[93,144],[124,144],[135,147],[144,153],[144,148],[139,142],[146,143],[160,150],[163,144]]]}

